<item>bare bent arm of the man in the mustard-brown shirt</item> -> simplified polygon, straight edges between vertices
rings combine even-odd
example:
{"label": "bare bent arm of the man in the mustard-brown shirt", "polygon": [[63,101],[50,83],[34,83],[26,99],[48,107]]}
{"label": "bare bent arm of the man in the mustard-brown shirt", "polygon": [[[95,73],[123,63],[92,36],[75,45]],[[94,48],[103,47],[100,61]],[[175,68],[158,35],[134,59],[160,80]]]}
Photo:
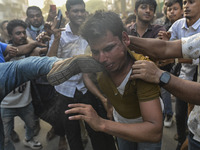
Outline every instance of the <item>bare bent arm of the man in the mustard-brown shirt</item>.
{"label": "bare bent arm of the man in the mustard-brown shirt", "polygon": [[[70,120],[84,120],[96,131],[105,132],[134,142],[158,142],[162,137],[162,113],[159,100],[142,102],[141,123],[119,123],[106,120],[97,115],[91,105],[70,104],[71,109],[66,114],[78,113],[70,116]],[[153,110],[153,111],[152,111]]]}

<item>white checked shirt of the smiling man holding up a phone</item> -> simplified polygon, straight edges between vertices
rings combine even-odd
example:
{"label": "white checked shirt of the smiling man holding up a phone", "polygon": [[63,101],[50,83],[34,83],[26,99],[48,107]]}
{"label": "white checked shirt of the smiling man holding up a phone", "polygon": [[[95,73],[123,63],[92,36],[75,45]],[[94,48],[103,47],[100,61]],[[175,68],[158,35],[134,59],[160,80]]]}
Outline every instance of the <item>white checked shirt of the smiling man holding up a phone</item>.
{"label": "white checked shirt of the smiling man holding up a phone", "polygon": [[[70,58],[75,55],[84,54],[88,43],[82,37],[74,35],[71,31],[69,23],[65,26],[66,30],[61,33],[60,44],[58,48],[57,57]],[[51,47],[54,37],[51,38],[49,46]],[[82,74],[77,74],[71,77],[66,82],[55,86],[55,89],[60,94],[67,97],[74,97],[76,89],[83,94],[87,92],[87,89],[83,83]]]}

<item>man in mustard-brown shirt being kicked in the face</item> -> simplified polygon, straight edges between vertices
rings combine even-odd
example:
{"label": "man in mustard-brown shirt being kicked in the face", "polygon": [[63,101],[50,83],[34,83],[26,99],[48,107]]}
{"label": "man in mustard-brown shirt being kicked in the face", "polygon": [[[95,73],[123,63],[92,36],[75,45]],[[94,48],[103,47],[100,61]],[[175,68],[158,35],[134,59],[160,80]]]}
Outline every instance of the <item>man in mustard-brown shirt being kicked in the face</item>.
{"label": "man in mustard-brown shirt being kicked in the face", "polygon": [[101,118],[86,104],[70,104],[70,120],[85,120],[96,131],[117,136],[119,150],[160,150],[162,110],[159,87],[142,80],[130,81],[131,68],[147,59],[128,49],[130,39],[122,20],[114,12],[96,11],[81,34],[89,43],[92,57],[105,69],[97,82],[114,107],[115,121]]}

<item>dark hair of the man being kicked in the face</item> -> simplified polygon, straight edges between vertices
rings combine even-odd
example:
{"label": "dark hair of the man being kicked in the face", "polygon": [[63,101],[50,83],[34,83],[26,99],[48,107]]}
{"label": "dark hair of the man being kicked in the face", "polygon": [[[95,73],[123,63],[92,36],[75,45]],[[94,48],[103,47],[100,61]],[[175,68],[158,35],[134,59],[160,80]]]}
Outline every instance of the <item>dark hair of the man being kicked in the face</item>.
{"label": "dark hair of the man being kicked in the face", "polygon": [[81,28],[81,35],[89,42],[105,36],[107,31],[122,40],[122,32],[126,29],[118,14],[112,11],[98,10],[84,23]]}

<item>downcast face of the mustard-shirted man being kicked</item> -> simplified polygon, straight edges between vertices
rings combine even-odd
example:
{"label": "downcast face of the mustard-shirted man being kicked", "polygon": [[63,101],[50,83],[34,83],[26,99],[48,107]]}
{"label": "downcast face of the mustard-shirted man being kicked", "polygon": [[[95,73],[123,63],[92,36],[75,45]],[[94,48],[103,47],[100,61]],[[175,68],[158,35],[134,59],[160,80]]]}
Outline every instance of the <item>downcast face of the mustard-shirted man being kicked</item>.
{"label": "downcast face of the mustard-shirted man being kicked", "polygon": [[127,49],[125,43],[127,42],[122,42],[118,36],[107,31],[105,36],[91,40],[89,45],[92,57],[100,62],[109,73],[113,73],[119,72],[126,64]]}

